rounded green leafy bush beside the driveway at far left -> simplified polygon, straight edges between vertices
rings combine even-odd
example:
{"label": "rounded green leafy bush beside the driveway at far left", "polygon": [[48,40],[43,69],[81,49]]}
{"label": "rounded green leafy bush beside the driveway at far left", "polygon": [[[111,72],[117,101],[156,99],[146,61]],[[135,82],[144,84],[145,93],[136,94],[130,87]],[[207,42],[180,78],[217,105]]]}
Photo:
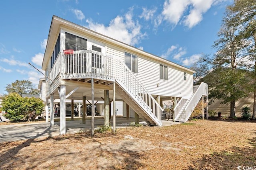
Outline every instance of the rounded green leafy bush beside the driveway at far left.
{"label": "rounded green leafy bush beside the driveway at far left", "polygon": [[11,122],[34,121],[44,111],[44,102],[37,98],[21,97],[18,93],[10,93],[2,98],[4,117]]}

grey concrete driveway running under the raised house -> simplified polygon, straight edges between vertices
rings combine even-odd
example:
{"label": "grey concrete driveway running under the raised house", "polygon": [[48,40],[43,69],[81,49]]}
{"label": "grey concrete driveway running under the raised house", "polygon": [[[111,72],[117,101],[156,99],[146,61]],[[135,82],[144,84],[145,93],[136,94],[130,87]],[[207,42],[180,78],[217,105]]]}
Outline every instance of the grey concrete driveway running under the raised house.
{"label": "grey concrete driveway running under the raised house", "polygon": [[[113,122],[112,120],[110,121]],[[116,119],[116,128],[129,127],[134,119],[126,120],[126,118]],[[146,124],[144,121],[140,121]],[[178,122],[163,121],[163,126],[179,124]],[[95,119],[94,128],[104,125],[104,119]],[[74,134],[79,131],[89,131],[91,128],[90,119],[86,120],[86,124],[82,121],[66,121],[66,134]],[[29,123],[17,125],[1,125],[0,126],[0,142],[10,142],[15,140],[24,140],[30,138],[40,138],[48,136],[58,136],[60,134],[60,122],[54,122],[54,126],[50,127],[50,123]]]}

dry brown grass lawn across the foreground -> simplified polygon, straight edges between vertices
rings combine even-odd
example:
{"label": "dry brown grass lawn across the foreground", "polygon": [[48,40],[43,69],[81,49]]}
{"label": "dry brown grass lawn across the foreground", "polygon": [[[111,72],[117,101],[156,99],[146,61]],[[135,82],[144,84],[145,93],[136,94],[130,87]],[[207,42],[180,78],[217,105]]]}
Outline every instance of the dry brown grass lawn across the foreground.
{"label": "dry brown grass lawn across the foreground", "polygon": [[0,169],[236,169],[256,166],[256,123],[191,121],[0,143]]}

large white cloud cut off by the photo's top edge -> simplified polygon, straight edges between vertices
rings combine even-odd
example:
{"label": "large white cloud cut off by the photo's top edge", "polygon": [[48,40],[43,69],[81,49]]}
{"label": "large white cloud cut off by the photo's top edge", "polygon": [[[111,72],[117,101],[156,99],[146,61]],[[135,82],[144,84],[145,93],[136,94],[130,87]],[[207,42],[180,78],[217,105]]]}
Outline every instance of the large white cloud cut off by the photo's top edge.
{"label": "large white cloud cut off by the photo's top edge", "polygon": [[203,14],[212,6],[224,1],[227,0],[165,0],[162,16],[174,26],[182,23],[192,28],[202,21]]}

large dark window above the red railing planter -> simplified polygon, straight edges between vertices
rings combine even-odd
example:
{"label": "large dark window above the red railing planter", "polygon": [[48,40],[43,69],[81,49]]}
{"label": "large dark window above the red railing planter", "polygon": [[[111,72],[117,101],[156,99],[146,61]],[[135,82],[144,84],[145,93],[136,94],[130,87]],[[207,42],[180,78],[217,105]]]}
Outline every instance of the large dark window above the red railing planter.
{"label": "large dark window above the red railing planter", "polygon": [[87,40],[66,32],[65,48],[74,49],[75,51],[86,50]]}

